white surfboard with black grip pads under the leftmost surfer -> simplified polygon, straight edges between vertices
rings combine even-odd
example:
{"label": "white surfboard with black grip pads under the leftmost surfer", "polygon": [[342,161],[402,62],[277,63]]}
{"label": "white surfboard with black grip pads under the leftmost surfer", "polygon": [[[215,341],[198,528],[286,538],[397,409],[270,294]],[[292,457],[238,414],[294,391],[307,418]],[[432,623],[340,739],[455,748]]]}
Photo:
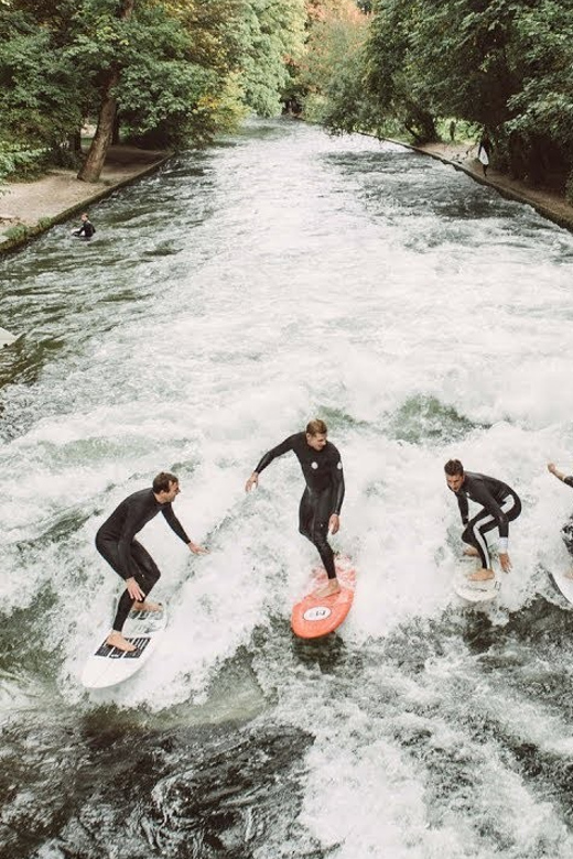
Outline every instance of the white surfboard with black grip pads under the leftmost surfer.
{"label": "white surfboard with black grip pads under the leftmost surfer", "polygon": [[123,627],[123,638],[137,650],[131,653],[110,648],[106,644],[107,633],[98,639],[95,652],[88,656],[82,674],[82,683],[87,689],[105,689],[131,677],[155,651],[165,627],[167,610],[130,611]]}

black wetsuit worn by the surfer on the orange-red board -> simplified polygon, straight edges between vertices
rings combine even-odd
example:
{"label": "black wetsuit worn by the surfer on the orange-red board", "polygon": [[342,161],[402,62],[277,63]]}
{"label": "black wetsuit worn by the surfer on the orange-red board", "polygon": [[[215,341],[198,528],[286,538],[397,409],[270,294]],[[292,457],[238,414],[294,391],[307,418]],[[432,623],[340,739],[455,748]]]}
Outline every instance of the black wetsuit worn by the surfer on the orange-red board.
{"label": "black wetsuit worn by the surfer on the orange-red board", "polygon": [[264,454],[256,472],[260,475],[273,459],[289,450],[296,455],[306,481],[299,508],[299,531],[318,550],[328,578],[336,578],[334,554],[327,536],[328,521],[333,513],[340,515],[344,501],[340,454],[329,442],[322,450],[315,450],[306,442],[306,433],[296,433]]}

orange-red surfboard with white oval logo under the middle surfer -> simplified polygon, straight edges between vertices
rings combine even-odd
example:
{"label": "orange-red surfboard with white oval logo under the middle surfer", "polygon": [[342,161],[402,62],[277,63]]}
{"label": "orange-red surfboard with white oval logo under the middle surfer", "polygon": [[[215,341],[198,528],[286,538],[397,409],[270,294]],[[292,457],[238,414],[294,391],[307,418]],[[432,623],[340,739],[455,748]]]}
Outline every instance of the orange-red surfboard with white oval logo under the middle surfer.
{"label": "orange-red surfboard with white oval logo under the middle surfer", "polygon": [[350,610],[354,599],[356,570],[347,557],[336,558],[336,577],[340,583],[338,594],[317,597],[316,591],[328,581],[324,569],[314,570],[311,591],[292,609],[291,627],[301,639],[320,639],[340,626]]}

